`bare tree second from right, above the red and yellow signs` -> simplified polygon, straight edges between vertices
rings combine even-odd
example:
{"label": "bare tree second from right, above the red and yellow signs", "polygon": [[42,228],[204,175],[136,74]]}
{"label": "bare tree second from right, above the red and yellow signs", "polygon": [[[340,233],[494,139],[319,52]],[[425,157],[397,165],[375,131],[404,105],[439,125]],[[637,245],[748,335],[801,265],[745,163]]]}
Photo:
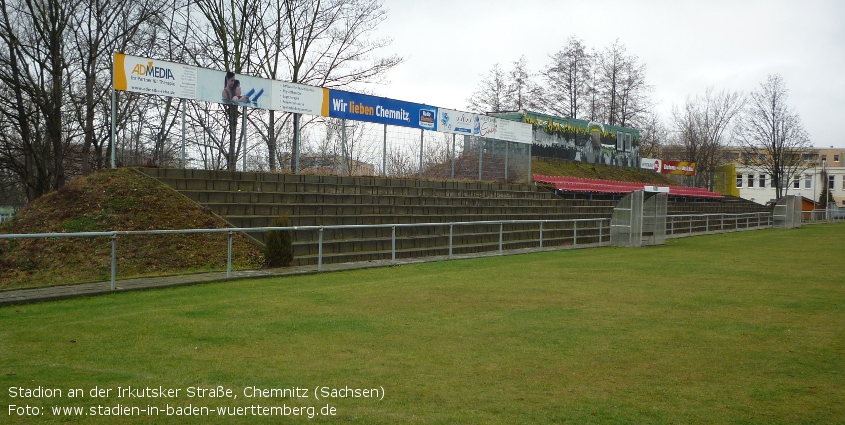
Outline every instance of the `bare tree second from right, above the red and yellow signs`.
{"label": "bare tree second from right, above the red and yellow signs", "polygon": [[725,90],[714,93],[710,87],[704,96],[687,97],[682,109],[673,108],[684,159],[696,164],[696,186],[714,189],[714,172],[722,147],[727,143],[727,131],[743,103],[740,93]]}

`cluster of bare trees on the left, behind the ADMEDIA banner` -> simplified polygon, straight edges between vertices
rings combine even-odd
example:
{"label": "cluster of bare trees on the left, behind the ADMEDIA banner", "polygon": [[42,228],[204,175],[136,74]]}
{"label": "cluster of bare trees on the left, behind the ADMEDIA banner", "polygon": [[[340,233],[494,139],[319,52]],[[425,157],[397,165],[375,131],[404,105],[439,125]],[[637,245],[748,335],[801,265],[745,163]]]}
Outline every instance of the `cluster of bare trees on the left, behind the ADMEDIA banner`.
{"label": "cluster of bare trees on the left, behind the ADMEDIA banner", "polygon": [[403,60],[380,54],[385,13],[379,0],[0,2],[0,195],[22,205],[108,166],[113,149],[126,164],[177,161],[184,122],[203,167],[235,169],[247,131],[270,169],[287,166],[291,125],[307,123],[274,111],[118,92],[113,140],[113,53],[354,88]]}

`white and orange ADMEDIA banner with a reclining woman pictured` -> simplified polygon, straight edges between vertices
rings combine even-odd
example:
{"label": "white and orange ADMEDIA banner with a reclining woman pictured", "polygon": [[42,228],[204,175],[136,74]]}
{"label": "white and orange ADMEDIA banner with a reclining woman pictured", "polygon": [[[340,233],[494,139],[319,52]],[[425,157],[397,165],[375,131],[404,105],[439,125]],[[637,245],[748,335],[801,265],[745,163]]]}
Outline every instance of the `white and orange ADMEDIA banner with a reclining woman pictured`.
{"label": "white and orange ADMEDIA banner with a reclining woman pictured", "polygon": [[115,90],[328,116],[328,89],[115,53]]}

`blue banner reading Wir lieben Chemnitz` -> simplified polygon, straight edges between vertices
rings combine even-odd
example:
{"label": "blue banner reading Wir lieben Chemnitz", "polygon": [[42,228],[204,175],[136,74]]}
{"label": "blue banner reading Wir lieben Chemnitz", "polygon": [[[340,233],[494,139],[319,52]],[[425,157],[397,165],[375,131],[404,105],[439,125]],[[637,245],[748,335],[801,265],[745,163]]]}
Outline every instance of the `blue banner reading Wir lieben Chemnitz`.
{"label": "blue banner reading Wir lieben Chemnitz", "polygon": [[437,130],[437,108],[434,106],[342,90],[329,90],[329,116]]}

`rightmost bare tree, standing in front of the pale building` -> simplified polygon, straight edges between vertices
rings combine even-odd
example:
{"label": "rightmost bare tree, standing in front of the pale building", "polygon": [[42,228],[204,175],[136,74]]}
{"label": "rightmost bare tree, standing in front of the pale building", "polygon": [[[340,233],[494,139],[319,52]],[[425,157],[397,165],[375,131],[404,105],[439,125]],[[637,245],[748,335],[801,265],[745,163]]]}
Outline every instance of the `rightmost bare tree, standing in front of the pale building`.
{"label": "rightmost bare tree, standing in front of the pale building", "polygon": [[748,165],[772,176],[778,199],[790,178],[812,165],[810,137],[787,104],[787,93],[783,78],[769,75],[751,92],[737,131]]}

